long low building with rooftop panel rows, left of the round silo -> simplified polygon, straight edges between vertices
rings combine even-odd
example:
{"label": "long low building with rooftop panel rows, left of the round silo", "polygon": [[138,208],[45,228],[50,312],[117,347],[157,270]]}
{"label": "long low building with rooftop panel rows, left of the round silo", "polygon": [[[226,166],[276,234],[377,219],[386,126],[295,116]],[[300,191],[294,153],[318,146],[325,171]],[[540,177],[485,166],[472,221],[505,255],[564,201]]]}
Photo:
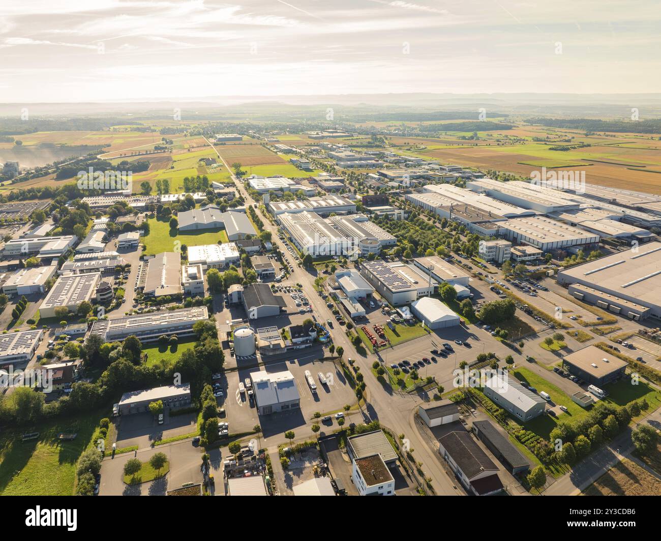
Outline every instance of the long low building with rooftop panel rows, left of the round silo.
{"label": "long low building with rooftop panel rows, left of the round silo", "polygon": [[105,342],[122,341],[136,335],[141,341],[158,340],[161,335],[176,335],[178,338],[193,335],[193,325],[209,319],[206,306],[164,310],[99,319],[92,323],[90,334],[99,335]]}

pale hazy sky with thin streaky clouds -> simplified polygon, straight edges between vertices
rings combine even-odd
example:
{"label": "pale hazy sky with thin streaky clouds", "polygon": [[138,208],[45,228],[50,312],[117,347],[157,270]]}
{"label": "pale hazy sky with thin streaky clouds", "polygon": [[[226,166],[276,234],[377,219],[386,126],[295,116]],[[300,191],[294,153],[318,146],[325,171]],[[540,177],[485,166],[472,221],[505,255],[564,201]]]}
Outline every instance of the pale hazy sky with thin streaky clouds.
{"label": "pale hazy sky with thin streaky clouds", "polygon": [[661,91],[658,0],[1,0],[0,102]]}

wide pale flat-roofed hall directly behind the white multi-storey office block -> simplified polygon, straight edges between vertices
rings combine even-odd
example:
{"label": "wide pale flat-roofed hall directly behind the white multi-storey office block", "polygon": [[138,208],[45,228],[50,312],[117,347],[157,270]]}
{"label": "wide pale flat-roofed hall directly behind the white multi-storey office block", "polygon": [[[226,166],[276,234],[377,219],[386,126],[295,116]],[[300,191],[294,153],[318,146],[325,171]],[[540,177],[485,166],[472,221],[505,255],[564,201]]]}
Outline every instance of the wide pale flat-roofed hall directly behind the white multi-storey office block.
{"label": "wide pale flat-roofed hall directly behind the white multi-storey office block", "polygon": [[597,244],[600,239],[599,235],[545,216],[512,218],[498,225],[504,229],[504,235],[508,240],[519,244],[530,244],[544,252],[555,248]]}

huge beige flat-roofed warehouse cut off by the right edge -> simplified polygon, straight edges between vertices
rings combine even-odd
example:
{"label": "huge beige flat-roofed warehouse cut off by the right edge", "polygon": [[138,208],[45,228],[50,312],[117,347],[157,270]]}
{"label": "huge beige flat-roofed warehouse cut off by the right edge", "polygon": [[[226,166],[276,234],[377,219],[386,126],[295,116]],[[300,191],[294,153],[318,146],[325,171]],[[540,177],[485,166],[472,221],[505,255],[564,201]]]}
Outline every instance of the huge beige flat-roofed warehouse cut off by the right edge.
{"label": "huge beige flat-roofed warehouse cut off by the right edge", "polygon": [[561,270],[558,283],[579,300],[631,319],[661,318],[661,242]]}

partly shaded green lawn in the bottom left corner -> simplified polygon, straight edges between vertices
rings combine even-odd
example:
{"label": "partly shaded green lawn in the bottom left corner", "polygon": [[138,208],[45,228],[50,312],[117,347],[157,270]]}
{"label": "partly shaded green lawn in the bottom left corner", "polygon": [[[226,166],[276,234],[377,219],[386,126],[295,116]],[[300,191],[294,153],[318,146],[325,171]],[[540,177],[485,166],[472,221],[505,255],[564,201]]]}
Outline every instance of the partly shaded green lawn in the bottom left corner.
{"label": "partly shaded green lawn in the bottom left corner", "polygon": [[[3,432],[0,437],[0,495],[73,495],[75,463],[87,448],[105,411],[57,419],[42,425]],[[21,434],[39,432],[38,440],[21,441]],[[60,433],[77,433],[60,441]]]}

